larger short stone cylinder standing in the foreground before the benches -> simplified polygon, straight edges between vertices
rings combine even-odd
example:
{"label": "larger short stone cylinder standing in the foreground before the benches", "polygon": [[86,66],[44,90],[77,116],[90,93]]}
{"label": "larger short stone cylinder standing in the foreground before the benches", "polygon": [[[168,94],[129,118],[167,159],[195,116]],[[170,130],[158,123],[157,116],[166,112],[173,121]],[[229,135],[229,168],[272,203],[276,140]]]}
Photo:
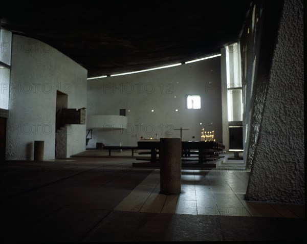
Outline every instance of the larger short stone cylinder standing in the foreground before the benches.
{"label": "larger short stone cylinder standing in the foreground before the benches", "polygon": [[181,138],[160,139],[160,192],[181,192]]}

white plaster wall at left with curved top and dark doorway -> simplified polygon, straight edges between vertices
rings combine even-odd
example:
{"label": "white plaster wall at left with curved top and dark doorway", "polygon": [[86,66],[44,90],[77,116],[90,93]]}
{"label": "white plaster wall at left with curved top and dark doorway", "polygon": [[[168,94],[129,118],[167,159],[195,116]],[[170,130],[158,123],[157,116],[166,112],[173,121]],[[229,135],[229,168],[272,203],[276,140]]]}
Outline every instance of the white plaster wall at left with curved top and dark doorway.
{"label": "white plaster wall at left with curved top and dark doorway", "polygon": [[[55,157],[56,91],[68,107],[86,107],[87,71],[41,41],[13,35],[7,160],[33,159],[34,141],[45,141],[44,159]],[[68,129],[67,157],[85,150],[85,125]]]}

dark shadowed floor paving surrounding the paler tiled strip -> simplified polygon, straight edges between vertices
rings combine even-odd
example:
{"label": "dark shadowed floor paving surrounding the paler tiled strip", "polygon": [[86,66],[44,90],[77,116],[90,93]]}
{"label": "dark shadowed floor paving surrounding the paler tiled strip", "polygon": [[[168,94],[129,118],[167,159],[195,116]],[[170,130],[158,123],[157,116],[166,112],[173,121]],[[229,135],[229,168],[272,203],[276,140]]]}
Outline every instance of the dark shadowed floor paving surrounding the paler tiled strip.
{"label": "dark shadowed floor paving surrounding the paler tiled strip", "polygon": [[133,159],[2,163],[6,242],[305,240],[305,218],[115,211],[152,172]]}

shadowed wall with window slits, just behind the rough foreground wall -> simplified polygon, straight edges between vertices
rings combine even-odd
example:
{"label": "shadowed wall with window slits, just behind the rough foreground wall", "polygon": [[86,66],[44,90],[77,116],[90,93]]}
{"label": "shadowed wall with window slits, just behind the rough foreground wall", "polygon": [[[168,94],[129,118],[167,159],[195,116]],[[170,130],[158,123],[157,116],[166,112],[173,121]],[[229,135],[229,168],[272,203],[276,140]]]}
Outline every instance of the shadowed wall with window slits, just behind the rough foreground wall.
{"label": "shadowed wall with window slits, just behind the rough foreground wall", "polygon": [[251,169],[264,112],[283,1],[255,0],[245,24],[242,43],[244,80],[244,158]]}

